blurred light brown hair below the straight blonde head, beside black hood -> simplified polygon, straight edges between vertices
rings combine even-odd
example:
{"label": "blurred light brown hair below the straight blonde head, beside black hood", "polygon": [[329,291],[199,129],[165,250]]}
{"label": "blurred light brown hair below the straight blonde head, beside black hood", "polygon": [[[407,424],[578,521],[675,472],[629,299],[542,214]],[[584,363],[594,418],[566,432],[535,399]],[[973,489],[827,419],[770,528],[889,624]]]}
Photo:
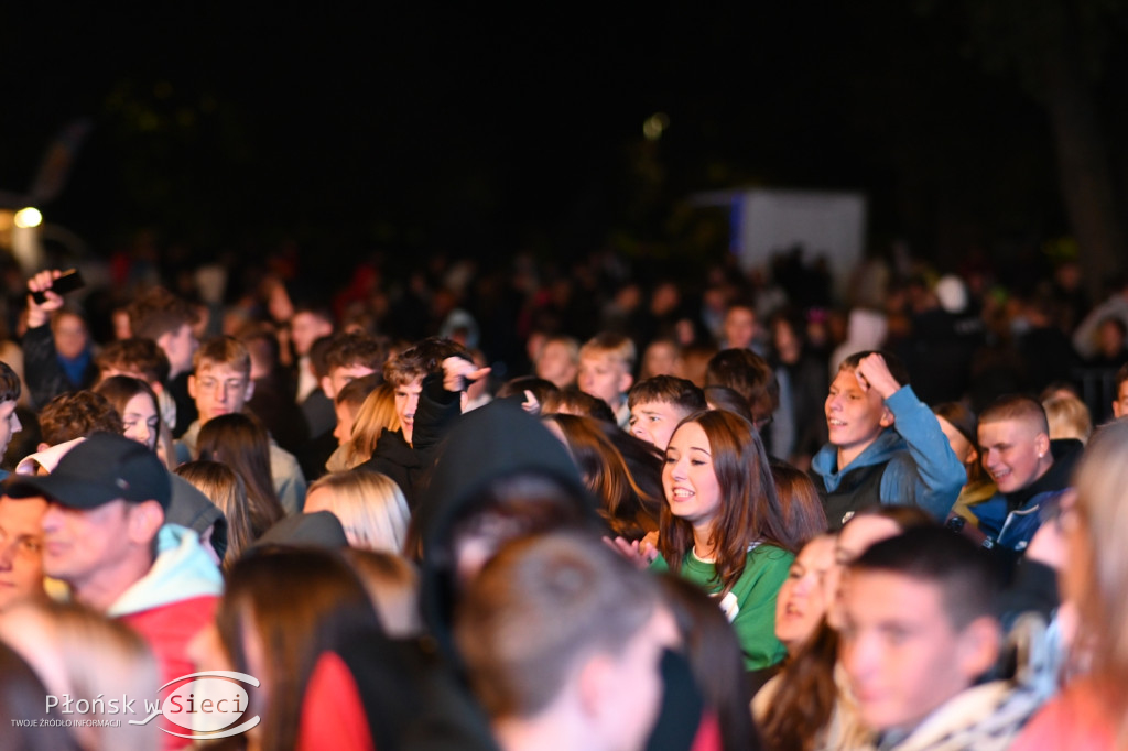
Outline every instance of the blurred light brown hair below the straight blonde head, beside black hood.
{"label": "blurred light brown hair below the straight blonde head, beside black hood", "polygon": [[343,553],[364,584],[388,636],[418,636],[423,631],[423,621],[420,615],[420,574],[415,565],[394,553],[358,548]]}

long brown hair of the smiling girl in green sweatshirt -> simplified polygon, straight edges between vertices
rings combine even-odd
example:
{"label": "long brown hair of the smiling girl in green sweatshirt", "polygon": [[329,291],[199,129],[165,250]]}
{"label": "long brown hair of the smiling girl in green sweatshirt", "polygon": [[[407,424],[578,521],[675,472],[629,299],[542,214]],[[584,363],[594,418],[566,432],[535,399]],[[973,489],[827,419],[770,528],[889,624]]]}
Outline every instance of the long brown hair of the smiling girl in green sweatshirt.
{"label": "long brown hair of the smiling girl in green sweatshirt", "polygon": [[[713,520],[710,539],[715,550],[716,575],[722,592],[729,592],[744,573],[748,549],[763,542],[795,553],[775,492],[768,458],[759,434],[747,419],[711,409],[689,415],[675,428],[697,423],[708,439],[713,472],[721,486],[721,510]],[[662,506],[659,551],[678,571],[693,548],[693,525]]]}

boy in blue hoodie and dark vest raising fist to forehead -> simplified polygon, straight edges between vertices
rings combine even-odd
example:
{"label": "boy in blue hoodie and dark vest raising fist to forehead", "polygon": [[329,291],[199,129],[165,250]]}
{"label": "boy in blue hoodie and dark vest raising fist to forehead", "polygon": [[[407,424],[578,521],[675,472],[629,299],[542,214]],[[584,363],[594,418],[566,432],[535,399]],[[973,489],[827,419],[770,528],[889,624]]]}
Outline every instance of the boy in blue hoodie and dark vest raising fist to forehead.
{"label": "boy in blue hoodie and dark vest raising fist to forehead", "polygon": [[838,369],[825,405],[830,441],[811,460],[830,531],[878,504],[943,521],[960,495],[967,472],[908,380],[889,352],[858,352]]}

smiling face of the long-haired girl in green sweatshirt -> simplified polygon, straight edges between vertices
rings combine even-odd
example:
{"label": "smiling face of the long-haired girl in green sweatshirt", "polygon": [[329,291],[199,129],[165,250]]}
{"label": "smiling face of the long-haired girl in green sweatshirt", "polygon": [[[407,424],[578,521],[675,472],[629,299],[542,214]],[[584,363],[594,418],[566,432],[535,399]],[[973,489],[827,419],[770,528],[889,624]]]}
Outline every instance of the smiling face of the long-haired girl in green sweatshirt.
{"label": "smiling face of the long-haired girl in green sweatshirt", "polygon": [[685,423],[670,438],[662,487],[675,516],[697,524],[720,513],[721,485],[713,470],[708,436],[697,423]]}

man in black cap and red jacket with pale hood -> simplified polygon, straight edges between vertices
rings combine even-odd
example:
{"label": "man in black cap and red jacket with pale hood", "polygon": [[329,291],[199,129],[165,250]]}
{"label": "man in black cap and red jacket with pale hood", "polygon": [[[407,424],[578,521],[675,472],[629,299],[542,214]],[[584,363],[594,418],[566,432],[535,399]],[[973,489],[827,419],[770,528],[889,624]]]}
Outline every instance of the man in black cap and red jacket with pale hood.
{"label": "man in black cap and red jacket with pale hood", "polygon": [[223,580],[200,537],[166,524],[168,471],[146,447],[98,433],[47,476],[9,483],[39,497],[43,569],[74,600],[136,630],[160,661],[162,682],[193,672],[187,643],[214,615]]}

